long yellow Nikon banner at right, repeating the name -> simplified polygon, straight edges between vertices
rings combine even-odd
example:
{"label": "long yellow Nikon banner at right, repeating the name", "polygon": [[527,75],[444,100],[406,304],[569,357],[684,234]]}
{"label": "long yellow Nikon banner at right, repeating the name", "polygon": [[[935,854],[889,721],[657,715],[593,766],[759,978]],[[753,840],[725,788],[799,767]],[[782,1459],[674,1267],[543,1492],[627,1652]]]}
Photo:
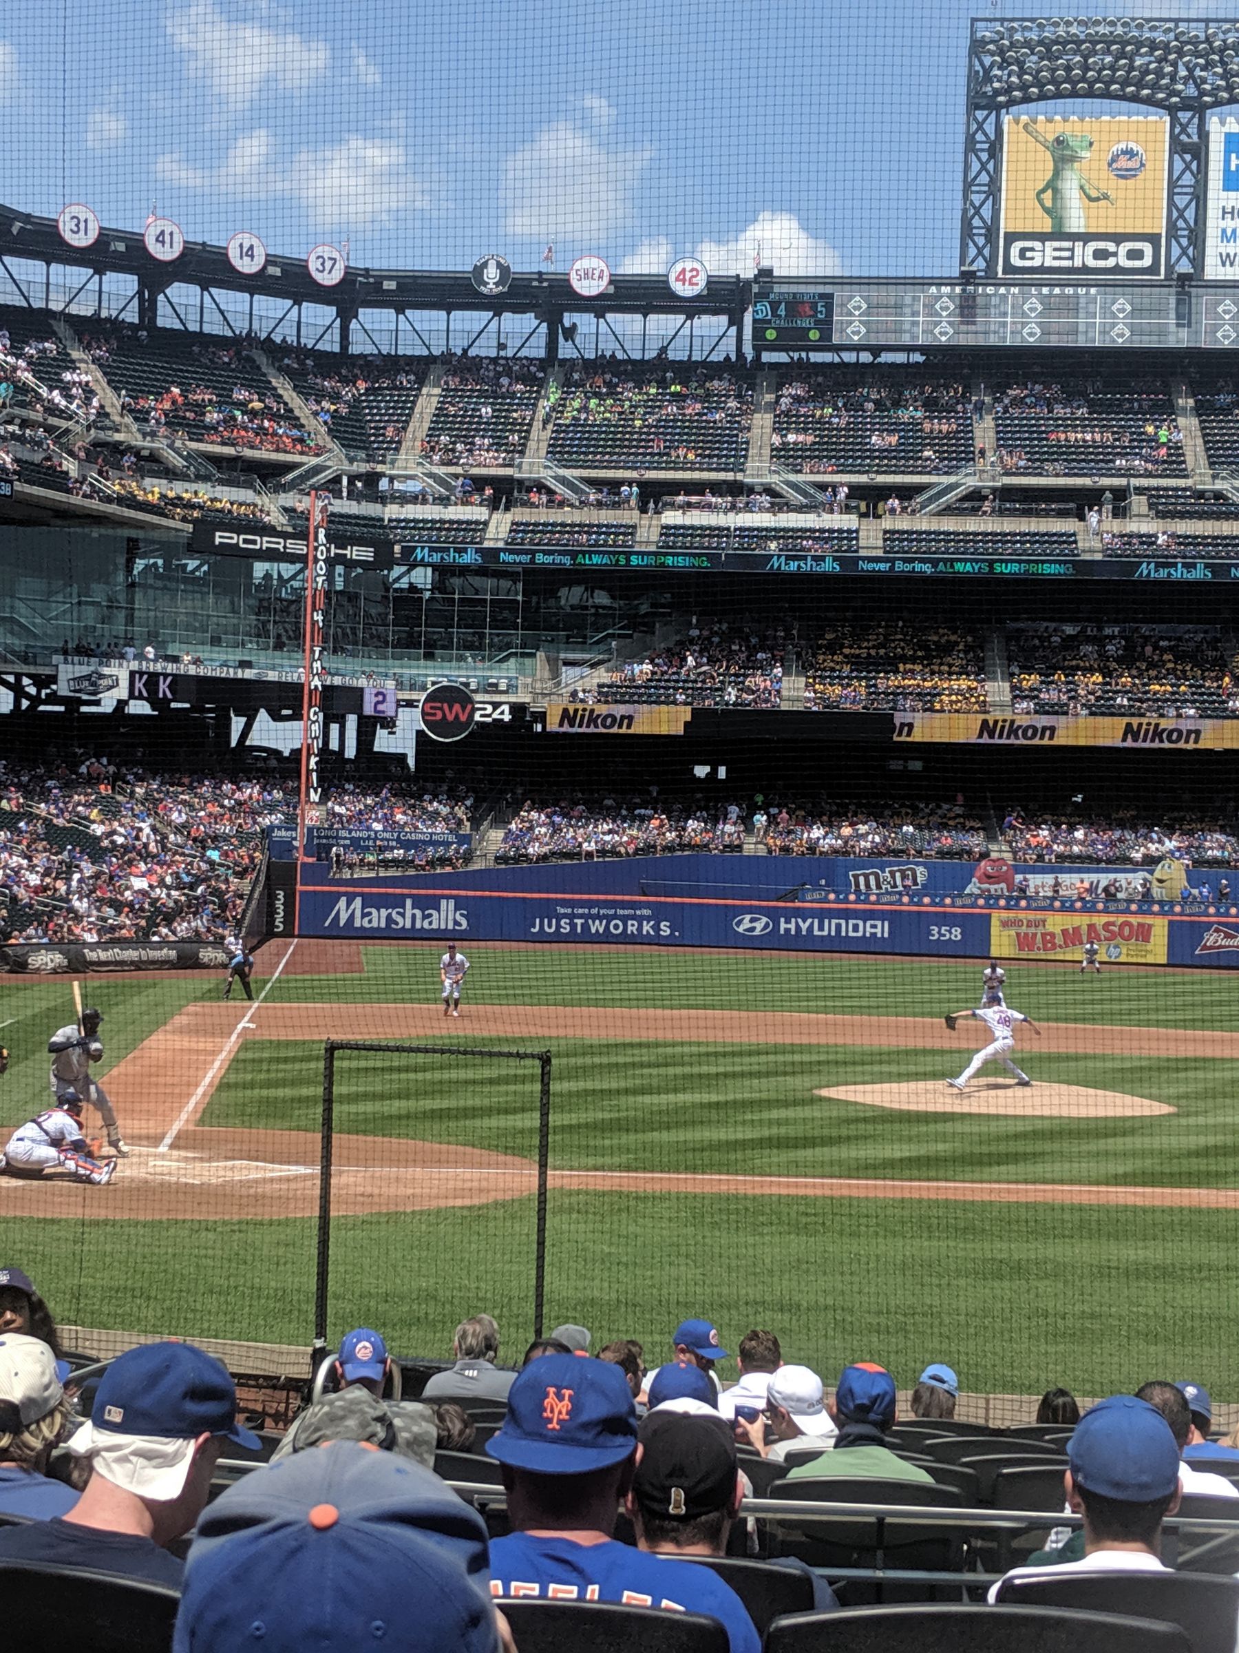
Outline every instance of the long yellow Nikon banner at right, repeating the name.
{"label": "long yellow Nikon banner at right, repeating the name", "polygon": [[894,739],[961,746],[1122,746],[1138,747],[1142,752],[1239,752],[1239,719],[895,712]]}

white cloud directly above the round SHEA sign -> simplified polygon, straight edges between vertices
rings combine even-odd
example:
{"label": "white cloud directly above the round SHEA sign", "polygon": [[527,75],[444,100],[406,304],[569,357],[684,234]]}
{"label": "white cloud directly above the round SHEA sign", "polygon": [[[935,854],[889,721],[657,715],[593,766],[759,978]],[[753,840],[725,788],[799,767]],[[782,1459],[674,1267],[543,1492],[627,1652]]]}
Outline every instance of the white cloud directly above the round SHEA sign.
{"label": "white cloud directly above the round SHEA sign", "polygon": [[[601,98],[586,99],[591,124],[600,126]],[[608,149],[577,121],[545,126],[504,165],[504,207],[509,235],[534,240],[562,236],[601,240],[633,218],[633,192],[654,155],[653,147]]]}

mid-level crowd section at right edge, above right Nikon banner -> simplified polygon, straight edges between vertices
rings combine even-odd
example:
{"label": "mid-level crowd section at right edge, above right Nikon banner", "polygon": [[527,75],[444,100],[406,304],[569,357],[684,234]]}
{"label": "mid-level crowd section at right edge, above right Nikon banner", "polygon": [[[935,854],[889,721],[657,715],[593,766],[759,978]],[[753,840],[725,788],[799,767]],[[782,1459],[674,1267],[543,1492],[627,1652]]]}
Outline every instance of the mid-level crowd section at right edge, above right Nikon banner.
{"label": "mid-level crowd section at right edge, above right Nikon banner", "polygon": [[1234,661],[1218,630],[1021,623],[1008,626],[1006,655],[1018,716],[1239,716]]}

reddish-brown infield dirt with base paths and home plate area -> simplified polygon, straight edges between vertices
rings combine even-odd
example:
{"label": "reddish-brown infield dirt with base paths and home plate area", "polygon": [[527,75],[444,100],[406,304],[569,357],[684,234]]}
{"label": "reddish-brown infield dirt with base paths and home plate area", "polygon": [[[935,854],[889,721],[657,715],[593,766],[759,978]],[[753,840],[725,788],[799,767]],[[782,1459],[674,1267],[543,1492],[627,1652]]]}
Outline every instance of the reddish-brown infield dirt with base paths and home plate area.
{"label": "reddish-brown infield dirt with base paths and home plate area", "polygon": [[[730,1010],[629,1010],[611,1007],[468,1005],[444,1020],[438,1005],[190,1005],[109,1073],[134,1144],[106,1190],[68,1182],[0,1182],[0,1210],[38,1217],[131,1220],[311,1217],[319,1195],[319,1139],[312,1132],[216,1129],[198,1124],[211,1091],[246,1040],[453,1038],[529,1048],[545,1038],[593,1041],[700,1041],[750,1045],[897,1046],[950,1053],[975,1045],[963,1030],[920,1017],[834,1017]],[[1057,1023],[1036,1050],[1122,1056],[1239,1056],[1239,1035]],[[225,1055],[225,1060],[221,1058]],[[205,1076],[211,1074],[205,1084]],[[823,1076],[826,1078],[826,1076]],[[1057,1086],[1057,1089],[1064,1089]],[[1070,1089],[1070,1088],[1066,1088]],[[846,1096],[846,1091],[823,1091]],[[1021,1091],[1021,1096],[1032,1096]],[[1094,1096],[1097,1093],[1092,1093]],[[197,1096],[167,1152],[165,1139]],[[1089,1114],[1080,1091],[1077,1117]],[[1118,1109],[1115,1109],[1118,1111]],[[738,1177],[651,1172],[555,1170],[553,1189],[608,1193],[732,1193],[811,1198],[968,1200],[995,1203],[1150,1205],[1239,1208],[1239,1189],[1108,1187],[1082,1184],[942,1182],[854,1177]],[[370,1136],[334,1139],[332,1207],[340,1215],[431,1210],[530,1195],[525,1159],[456,1144]]]}

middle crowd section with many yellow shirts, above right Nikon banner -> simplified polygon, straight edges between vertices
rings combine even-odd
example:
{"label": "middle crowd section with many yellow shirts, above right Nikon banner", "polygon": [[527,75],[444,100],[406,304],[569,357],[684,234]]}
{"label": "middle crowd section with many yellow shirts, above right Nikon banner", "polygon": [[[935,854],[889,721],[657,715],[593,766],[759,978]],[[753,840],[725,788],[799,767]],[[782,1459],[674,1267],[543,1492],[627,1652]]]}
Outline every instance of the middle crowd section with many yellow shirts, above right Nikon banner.
{"label": "middle crowd section with many yellow shirts, above right Nikon banner", "polygon": [[826,626],[805,673],[805,709],[813,712],[983,712],[986,706],[985,645],[960,626],[907,620]]}

